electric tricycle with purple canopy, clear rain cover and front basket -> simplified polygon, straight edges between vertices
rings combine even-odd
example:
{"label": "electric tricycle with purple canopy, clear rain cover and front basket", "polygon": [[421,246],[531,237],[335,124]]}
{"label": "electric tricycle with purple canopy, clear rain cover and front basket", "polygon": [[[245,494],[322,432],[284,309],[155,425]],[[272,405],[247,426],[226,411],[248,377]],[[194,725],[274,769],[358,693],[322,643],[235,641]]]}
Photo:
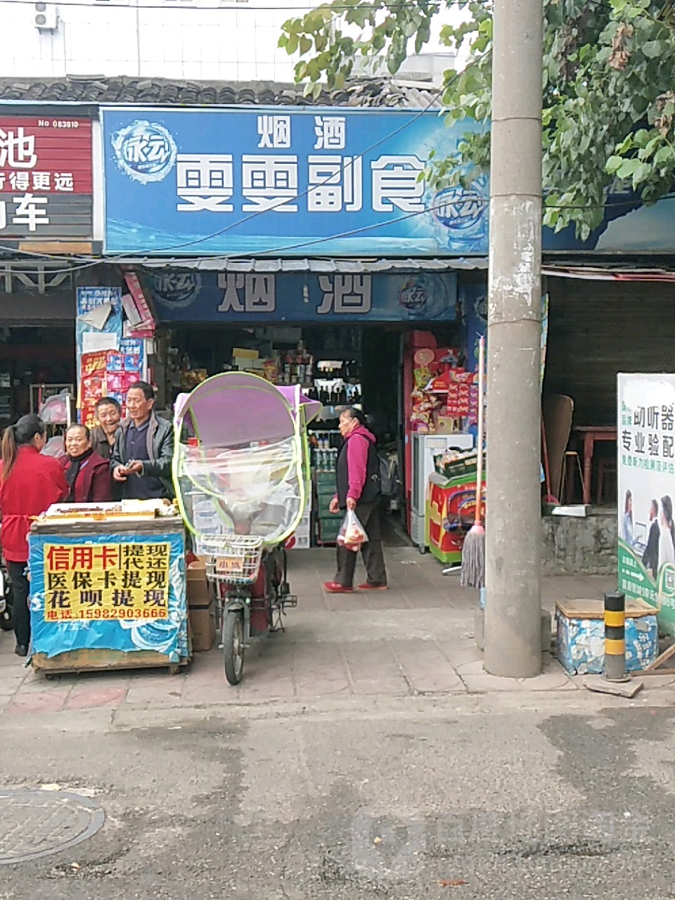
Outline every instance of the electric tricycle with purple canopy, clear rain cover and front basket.
{"label": "electric tricycle with purple canopy, clear rain cover and front basket", "polygon": [[251,638],[284,630],[298,599],[284,545],[310,498],[306,425],[320,404],[257,375],[214,375],[175,407],[176,497],[214,586],[230,684]]}

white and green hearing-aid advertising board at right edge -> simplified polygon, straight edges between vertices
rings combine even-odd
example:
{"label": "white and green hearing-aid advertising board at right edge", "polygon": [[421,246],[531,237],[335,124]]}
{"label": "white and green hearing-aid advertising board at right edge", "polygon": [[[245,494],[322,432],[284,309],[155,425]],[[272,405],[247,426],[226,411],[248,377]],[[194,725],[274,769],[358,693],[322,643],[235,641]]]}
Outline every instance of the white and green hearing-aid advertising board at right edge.
{"label": "white and green hearing-aid advertising board at right edge", "polygon": [[618,586],[675,635],[675,374],[618,375]]}

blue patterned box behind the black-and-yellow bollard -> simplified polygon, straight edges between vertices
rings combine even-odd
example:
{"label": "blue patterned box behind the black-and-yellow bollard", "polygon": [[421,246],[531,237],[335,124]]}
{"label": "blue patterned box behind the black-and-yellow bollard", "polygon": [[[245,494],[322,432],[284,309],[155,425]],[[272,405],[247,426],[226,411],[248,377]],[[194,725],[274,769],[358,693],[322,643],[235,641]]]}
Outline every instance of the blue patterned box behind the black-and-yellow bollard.
{"label": "blue patterned box behind the black-and-yellow bollard", "polygon": [[[564,600],[555,605],[558,660],[571,675],[599,674],[605,662],[602,600]],[[626,670],[640,671],[659,653],[656,611],[626,600]]]}

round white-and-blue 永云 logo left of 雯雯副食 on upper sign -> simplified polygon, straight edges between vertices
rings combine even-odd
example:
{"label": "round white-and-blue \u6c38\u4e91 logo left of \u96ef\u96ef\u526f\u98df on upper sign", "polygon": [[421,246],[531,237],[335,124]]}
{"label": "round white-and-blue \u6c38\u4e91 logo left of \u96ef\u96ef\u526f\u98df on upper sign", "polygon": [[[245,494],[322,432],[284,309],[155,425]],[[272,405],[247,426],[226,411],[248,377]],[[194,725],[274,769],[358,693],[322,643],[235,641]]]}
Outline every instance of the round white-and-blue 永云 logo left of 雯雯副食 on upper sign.
{"label": "round white-and-blue \u6c38\u4e91 logo left of \u96ef\u96ef\u526f\u98df on upper sign", "polygon": [[171,132],[149,121],[134,121],[115,131],[112,149],[121,171],[140,184],[166,178],[178,152]]}

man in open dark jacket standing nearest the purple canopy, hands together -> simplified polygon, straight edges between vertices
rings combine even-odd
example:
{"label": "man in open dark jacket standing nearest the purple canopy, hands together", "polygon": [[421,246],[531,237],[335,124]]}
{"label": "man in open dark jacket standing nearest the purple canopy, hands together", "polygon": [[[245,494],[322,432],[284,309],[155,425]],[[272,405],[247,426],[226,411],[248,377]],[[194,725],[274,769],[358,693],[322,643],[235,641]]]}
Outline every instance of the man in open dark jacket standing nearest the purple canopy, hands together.
{"label": "man in open dark jacket standing nearest the purple canopy, hands together", "polygon": [[171,461],[174,430],[153,410],[155,392],[146,382],[136,382],[127,392],[127,412],[115,438],[110,465],[112,478],[122,485],[126,500],[173,497]]}

